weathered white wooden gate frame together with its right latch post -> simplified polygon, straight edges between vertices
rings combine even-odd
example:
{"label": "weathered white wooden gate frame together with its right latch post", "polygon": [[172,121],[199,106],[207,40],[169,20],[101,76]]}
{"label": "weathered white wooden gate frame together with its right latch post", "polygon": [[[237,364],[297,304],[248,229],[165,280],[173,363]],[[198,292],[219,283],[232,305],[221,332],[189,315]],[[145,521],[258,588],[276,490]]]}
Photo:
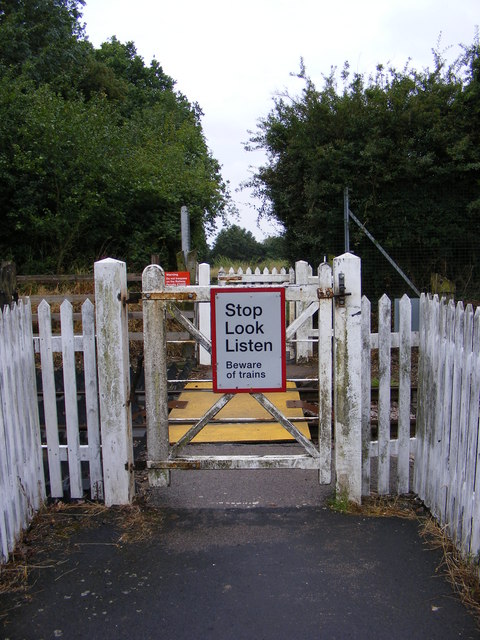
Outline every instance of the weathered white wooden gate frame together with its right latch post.
{"label": "weathered white wooden gate frame together with its right latch post", "polygon": [[[261,283],[261,274],[258,275],[256,282],[254,275],[250,276],[249,286],[254,287],[255,284]],[[171,469],[284,468],[316,469],[319,471],[319,481],[322,484],[329,484],[332,451],[332,371],[334,371],[336,489],[346,494],[349,499],[360,502],[362,455],[360,260],[351,254],[345,254],[334,260],[333,270],[328,264],[322,264],[317,276],[307,275],[302,282],[282,283],[286,301],[295,304],[298,309],[296,318],[286,329],[287,341],[293,339],[302,326],[318,311],[318,448],[307,440],[262,393],[251,395],[302,445],[304,452],[300,455],[183,455],[186,445],[231,400],[233,397],[231,393],[222,395],[179,441],[170,445],[166,373],[167,310],[198,340],[205,352],[209,353],[212,346],[209,337],[185,318],[176,303],[183,301],[209,303],[211,287],[209,284],[165,286],[164,272],[158,265],[150,265],[145,269],[142,284],[147,467],[150,483],[155,486],[168,485]]]}

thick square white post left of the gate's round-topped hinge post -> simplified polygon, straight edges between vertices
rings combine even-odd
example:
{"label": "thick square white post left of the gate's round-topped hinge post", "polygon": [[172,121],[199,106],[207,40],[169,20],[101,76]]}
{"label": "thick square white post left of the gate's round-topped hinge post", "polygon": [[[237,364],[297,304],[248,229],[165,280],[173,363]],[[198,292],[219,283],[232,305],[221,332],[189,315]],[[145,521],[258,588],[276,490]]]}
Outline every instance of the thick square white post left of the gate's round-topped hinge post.
{"label": "thick square white post left of the gate's round-topped hinge post", "polygon": [[105,504],[129,504],[134,494],[127,270],[107,258],[95,263],[98,387]]}

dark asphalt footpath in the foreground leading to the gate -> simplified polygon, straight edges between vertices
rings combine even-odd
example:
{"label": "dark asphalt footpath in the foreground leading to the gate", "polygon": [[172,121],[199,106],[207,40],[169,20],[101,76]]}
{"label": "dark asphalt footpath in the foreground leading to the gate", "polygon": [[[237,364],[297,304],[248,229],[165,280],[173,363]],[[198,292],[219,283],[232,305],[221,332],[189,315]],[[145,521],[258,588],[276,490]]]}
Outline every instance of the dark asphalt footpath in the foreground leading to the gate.
{"label": "dark asphalt footpath in the foreground leading to the gate", "polygon": [[331,491],[311,471],[176,471],[142,508],[51,509],[17,556],[21,590],[0,594],[0,635],[480,638],[418,520],[335,513]]}

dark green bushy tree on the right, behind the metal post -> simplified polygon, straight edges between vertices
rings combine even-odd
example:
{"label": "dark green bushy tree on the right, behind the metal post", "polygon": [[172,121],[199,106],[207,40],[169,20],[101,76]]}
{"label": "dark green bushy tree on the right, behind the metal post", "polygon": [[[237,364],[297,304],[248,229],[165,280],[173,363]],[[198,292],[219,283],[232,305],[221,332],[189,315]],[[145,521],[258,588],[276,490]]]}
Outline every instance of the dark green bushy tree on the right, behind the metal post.
{"label": "dark green bushy tree on the right, behind the metal post", "polygon": [[[477,41],[450,66],[435,52],[433,70],[379,65],[368,79],[346,64],[343,89],[332,72],[318,90],[302,65],[302,94],[276,98],[250,141],[268,157],[251,186],[291,262],[343,253],[348,186],[350,209],[419,288],[439,272],[462,289],[480,266],[479,54]],[[369,242],[351,230],[355,253]],[[367,292],[393,286],[380,254],[362,268]]]}

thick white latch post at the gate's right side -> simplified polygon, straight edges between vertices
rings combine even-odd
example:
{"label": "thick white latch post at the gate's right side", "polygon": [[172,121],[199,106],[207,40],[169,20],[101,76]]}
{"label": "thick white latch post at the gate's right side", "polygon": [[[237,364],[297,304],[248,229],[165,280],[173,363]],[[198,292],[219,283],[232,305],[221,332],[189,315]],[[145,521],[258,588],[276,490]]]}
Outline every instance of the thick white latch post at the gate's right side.
{"label": "thick white latch post at the gate's right side", "polygon": [[334,291],[341,293],[344,280],[349,294],[336,298],[334,312],[336,491],[356,503],[362,496],[360,269],[360,258],[350,253],[333,261]]}

